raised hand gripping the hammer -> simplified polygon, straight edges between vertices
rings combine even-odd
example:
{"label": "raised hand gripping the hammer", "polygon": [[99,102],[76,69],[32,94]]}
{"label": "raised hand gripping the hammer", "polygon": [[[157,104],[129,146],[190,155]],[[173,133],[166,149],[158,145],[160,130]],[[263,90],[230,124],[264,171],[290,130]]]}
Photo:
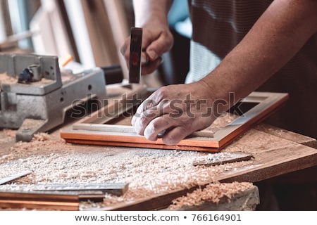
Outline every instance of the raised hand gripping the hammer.
{"label": "raised hand gripping the hammer", "polygon": [[[142,51],[147,53],[149,62],[142,65],[142,75],[154,72],[162,63],[162,54],[169,51],[173,46],[173,35],[170,33],[168,25],[161,23],[159,20],[151,20],[143,27]],[[125,57],[129,68],[130,59],[130,37],[120,48],[120,52]]]}

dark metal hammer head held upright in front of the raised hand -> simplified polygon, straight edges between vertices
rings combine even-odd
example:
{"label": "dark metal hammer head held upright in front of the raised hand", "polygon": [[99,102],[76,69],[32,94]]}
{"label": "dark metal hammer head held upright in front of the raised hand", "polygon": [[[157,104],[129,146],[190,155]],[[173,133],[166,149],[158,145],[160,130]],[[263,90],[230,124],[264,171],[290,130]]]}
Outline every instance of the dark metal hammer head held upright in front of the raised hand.
{"label": "dark metal hammer head held upright in front of the raised hand", "polygon": [[141,77],[142,28],[131,28],[129,82],[139,84]]}

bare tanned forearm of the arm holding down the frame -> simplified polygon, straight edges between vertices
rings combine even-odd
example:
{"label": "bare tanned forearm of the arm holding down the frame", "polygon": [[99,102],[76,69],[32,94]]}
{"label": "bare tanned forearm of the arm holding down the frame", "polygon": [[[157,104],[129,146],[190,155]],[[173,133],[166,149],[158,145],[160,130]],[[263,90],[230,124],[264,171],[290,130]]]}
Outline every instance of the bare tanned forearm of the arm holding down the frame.
{"label": "bare tanned forearm of the arm holding down the frame", "polygon": [[[280,70],[317,32],[317,1],[275,0],[244,39],[202,82],[212,99],[244,98]],[[227,108],[223,108],[227,110]]]}

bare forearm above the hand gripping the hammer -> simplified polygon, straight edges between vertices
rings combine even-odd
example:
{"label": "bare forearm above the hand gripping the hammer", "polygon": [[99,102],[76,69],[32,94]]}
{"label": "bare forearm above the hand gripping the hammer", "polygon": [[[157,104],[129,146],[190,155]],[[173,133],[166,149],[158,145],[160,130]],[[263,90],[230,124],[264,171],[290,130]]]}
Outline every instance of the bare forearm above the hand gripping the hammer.
{"label": "bare forearm above the hand gripping the hammer", "polygon": [[143,27],[147,21],[156,19],[168,25],[167,15],[173,0],[133,0],[135,26]]}

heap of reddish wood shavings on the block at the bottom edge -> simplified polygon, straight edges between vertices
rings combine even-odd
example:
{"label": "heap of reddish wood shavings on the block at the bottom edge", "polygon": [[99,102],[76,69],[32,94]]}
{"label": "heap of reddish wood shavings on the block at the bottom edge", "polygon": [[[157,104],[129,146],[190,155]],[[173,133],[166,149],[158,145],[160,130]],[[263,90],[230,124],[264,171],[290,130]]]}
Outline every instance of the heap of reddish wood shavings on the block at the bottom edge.
{"label": "heap of reddish wood shavings on the block at the bottom edge", "polygon": [[176,198],[173,204],[168,207],[168,210],[180,210],[183,207],[201,205],[206,202],[218,203],[222,198],[226,198],[230,202],[232,196],[237,192],[246,191],[252,186],[251,183],[247,182],[209,184],[204,189],[198,188],[192,193],[187,193],[186,196]]}

